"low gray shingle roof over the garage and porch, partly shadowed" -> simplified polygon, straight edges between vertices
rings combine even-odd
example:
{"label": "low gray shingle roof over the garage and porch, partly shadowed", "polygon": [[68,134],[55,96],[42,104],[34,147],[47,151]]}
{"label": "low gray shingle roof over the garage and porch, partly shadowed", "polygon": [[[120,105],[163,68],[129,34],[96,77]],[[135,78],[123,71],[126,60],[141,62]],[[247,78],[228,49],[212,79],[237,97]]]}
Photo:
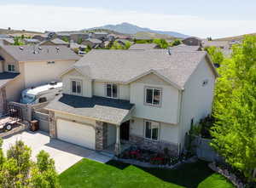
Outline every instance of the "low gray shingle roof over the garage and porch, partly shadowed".
{"label": "low gray shingle roof over the garage and porch, partly shadowed", "polygon": [[97,96],[87,98],[63,94],[56,97],[45,108],[119,124],[129,114],[132,107],[133,105],[128,100],[114,100]]}

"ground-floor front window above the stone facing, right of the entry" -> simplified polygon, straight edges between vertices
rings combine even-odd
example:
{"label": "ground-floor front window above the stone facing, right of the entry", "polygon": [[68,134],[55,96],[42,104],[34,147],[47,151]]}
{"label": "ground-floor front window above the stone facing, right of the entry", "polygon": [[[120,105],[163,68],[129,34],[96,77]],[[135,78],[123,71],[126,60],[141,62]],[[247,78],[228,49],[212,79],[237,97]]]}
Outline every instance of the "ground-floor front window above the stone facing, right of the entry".
{"label": "ground-floor front window above the stone facing, right of the entry", "polygon": [[145,138],[150,140],[159,140],[160,123],[145,121]]}

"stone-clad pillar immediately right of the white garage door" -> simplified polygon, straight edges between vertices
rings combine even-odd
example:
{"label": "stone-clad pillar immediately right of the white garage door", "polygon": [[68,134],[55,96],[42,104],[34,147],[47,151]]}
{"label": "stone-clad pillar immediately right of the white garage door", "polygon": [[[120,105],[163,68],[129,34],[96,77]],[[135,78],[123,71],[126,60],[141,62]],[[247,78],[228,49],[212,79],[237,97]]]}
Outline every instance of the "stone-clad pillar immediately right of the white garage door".
{"label": "stone-clad pillar immediately right of the white garage door", "polygon": [[108,123],[96,121],[96,150],[104,150],[108,141]]}

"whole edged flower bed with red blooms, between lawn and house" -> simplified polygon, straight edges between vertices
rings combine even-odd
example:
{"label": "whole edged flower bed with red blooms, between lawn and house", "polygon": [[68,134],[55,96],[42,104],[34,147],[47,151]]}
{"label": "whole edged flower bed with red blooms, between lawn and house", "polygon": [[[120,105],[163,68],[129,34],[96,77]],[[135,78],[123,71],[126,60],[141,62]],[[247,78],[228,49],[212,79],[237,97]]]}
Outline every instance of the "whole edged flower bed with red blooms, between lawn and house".
{"label": "whole edged flower bed with red blooms, between lawn and house", "polygon": [[173,168],[177,163],[185,162],[190,157],[192,156],[189,153],[173,156],[167,149],[164,152],[155,152],[131,147],[120,154],[118,159],[122,162],[129,162],[143,167]]}

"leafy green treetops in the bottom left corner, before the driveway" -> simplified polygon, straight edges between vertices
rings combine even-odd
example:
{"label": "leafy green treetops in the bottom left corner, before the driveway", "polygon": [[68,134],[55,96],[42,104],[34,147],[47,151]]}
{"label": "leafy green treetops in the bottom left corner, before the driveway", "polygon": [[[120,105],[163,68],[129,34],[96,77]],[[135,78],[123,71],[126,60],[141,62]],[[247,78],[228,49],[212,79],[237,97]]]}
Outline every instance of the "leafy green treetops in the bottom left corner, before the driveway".
{"label": "leafy green treetops in the bottom left corner, before the driveway", "polygon": [[0,187],[60,187],[55,162],[49,158],[48,153],[40,151],[37,162],[32,162],[32,151],[22,141],[16,141],[9,148],[7,157],[3,157],[2,140],[0,145]]}

